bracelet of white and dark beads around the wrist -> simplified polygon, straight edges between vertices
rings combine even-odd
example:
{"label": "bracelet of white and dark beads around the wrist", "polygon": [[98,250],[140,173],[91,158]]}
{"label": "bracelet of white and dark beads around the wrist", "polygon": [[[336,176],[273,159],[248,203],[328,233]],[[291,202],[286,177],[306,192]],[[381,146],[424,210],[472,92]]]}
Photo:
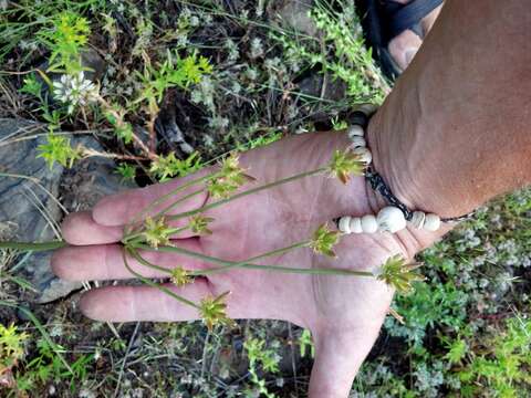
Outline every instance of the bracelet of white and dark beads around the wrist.
{"label": "bracelet of white and dark beads around the wrist", "polygon": [[379,192],[391,206],[386,206],[378,211],[376,216],[365,214],[362,217],[343,216],[337,219],[337,228],[343,233],[375,233],[391,232],[395,233],[406,228],[407,222],[417,229],[426,231],[437,231],[441,222],[458,222],[469,219],[473,212],[452,218],[440,218],[435,213],[426,213],[424,211],[409,210],[398,198],[396,198],[385,184],[384,179],[372,167],[373,156],[367,148],[365,140],[365,129],[368,125],[371,116],[376,111],[373,105],[362,105],[351,116],[351,126],[347,128],[347,135],[351,139],[352,151],[358,155],[365,167],[365,179],[371,187]]}

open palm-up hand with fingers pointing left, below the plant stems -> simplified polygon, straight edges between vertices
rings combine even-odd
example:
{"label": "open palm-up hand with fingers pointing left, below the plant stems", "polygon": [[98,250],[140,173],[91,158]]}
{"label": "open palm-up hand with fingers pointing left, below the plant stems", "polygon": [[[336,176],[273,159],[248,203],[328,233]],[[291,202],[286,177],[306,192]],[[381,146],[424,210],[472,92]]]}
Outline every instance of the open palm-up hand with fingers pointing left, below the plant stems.
{"label": "open palm-up hand with fingers pointing left, below the plant stems", "polygon": [[[334,149],[344,149],[347,145],[342,133],[294,136],[242,154],[240,164],[256,178],[254,184],[263,184],[326,165]],[[133,277],[124,265],[118,244],[124,224],[153,200],[189,178],[107,197],[90,212],[69,216],[63,224],[63,235],[72,247],[54,254],[54,272],[75,281]],[[206,195],[196,196],[175,212],[199,208],[206,201]],[[192,237],[188,232],[180,233],[174,243],[216,258],[242,261],[308,239],[320,224],[334,218],[374,212],[376,206],[364,178],[353,178],[344,186],[335,178],[319,175],[211,209],[205,216],[215,219],[209,226],[212,234]],[[269,258],[267,263],[302,269],[376,271],[391,255],[402,254],[410,259],[418,249],[417,239],[407,231],[395,235],[352,234],[343,237],[335,247],[337,259],[303,248]],[[187,270],[211,266],[177,253],[152,251],[143,255],[168,269],[176,265]],[[129,260],[129,264],[146,277],[167,276],[134,260]],[[309,328],[315,343],[310,397],[319,398],[347,396],[358,367],[377,337],[393,296],[389,286],[373,277],[242,269],[199,277],[181,287],[166,286],[192,302],[230,291],[227,305],[232,318],[284,320]],[[199,318],[195,308],[152,286],[92,290],[84,294],[80,306],[86,316],[111,322]]]}

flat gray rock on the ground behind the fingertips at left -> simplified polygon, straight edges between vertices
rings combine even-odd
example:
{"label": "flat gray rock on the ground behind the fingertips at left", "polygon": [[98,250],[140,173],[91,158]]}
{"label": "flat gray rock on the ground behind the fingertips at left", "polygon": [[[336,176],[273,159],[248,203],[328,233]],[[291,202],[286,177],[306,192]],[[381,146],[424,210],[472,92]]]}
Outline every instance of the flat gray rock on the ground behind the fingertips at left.
{"label": "flat gray rock on the ground behind the fingertips at left", "polygon": [[[42,242],[59,238],[62,209],[82,210],[92,207],[101,197],[124,189],[110,159],[94,157],[79,161],[70,170],[54,165],[51,169],[37,148],[45,143],[45,126],[23,119],[0,118],[0,172],[28,176],[35,180],[0,175],[0,230],[3,239]],[[72,144],[102,151],[93,137],[72,138]],[[63,203],[60,206],[60,200]],[[8,232],[6,232],[8,231]],[[51,302],[65,296],[80,283],[59,280],[50,268],[51,252],[34,253],[23,262],[22,276],[39,291],[37,302]]]}

